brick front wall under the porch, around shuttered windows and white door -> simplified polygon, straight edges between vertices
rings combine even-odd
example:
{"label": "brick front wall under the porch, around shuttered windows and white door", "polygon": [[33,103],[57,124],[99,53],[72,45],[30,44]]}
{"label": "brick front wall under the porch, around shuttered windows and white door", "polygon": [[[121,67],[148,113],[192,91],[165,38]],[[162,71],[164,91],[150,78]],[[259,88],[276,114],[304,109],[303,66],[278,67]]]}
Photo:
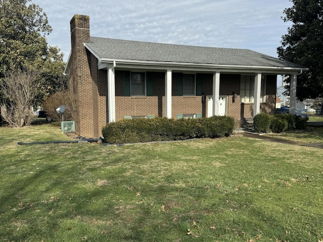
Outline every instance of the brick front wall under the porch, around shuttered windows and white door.
{"label": "brick front wall under the porch, around shuttered windows and white door", "polygon": [[[205,95],[212,95],[213,75],[197,74],[203,80],[202,91]],[[153,93],[151,97],[145,96],[123,96],[124,73],[116,71],[116,120],[124,116],[165,116],[165,73],[153,73]],[[238,94],[233,102],[233,92]],[[240,120],[240,75],[221,74],[220,95],[228,97],[227,114]],[[172,117],[177,114],[207,114],[207,100],[202,102],[201,96],[177,96],[176,75],[172,79]]]}

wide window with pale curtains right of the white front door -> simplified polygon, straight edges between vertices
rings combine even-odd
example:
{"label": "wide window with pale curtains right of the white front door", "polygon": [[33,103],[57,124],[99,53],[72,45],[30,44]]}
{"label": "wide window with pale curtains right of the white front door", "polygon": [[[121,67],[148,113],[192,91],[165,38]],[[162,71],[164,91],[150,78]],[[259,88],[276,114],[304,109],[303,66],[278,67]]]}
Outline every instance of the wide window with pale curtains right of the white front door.
{"label": "wide window with pale curtains right of the white front door", "polygon": [[[261,87],[260,87],[260,102],[265,102],[266,100],[266,80],[265,77],[261,78]],[[240,83],[240,96],[241,102],[250,103],[254,102],[254,76],[241,75]]]}

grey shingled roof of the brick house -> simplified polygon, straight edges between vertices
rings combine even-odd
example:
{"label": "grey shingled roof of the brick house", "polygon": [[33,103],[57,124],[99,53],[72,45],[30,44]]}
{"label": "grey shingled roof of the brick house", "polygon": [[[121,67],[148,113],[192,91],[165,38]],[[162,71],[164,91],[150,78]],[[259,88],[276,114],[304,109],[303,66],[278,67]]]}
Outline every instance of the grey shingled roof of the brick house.
{"label": "grey shingled roof of the brick house", "polygon": [[216,48],[90,37],[85,46],[101,59],[229,66],[304,68],[249,49]]}

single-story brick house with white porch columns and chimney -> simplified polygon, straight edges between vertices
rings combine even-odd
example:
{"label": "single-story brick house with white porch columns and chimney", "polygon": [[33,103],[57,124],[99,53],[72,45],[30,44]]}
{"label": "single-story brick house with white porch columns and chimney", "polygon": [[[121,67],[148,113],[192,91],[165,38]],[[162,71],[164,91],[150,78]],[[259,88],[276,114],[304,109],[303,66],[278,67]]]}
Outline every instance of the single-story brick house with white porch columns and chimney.
{"label": "single-story brick house with white porch columns and chimney", "polygon": [[123,118],[229,115],[240,124],[275,113],[277,75],[291,75],[295,97],[296,77],[306,70],[248,49],[92,37],[84,15],[70,25],[65,74],[75,132],[85,137],[99,137],[106,123]]}

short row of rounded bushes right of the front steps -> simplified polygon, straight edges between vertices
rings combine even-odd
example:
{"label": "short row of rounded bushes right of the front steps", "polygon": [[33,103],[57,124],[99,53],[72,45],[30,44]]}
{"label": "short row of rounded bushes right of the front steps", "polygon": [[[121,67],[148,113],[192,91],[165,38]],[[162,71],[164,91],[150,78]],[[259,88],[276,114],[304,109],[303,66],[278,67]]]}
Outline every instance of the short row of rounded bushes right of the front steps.
{"label": "short row of rounded bushes right of the front steps", "polygon": [[274,132],[281,133],[283,131],[298,129],[306,129],[306,118],[296,117],[290,113],[280,113],[270,115],[259,113],[253,118],[253,128],[256,132]]}

